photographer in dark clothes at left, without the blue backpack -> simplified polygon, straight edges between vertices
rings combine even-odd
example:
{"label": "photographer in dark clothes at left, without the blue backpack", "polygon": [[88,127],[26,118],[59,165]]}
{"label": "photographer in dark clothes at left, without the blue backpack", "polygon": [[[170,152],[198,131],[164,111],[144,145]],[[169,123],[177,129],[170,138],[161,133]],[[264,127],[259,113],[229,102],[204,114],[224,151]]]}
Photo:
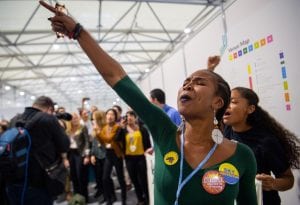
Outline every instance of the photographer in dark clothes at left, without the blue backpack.
{"label": "photographer in dark clothes at left, without the blue backpack", "polygon": [[7,179],[6,191],[11,205],[52,205],[55,195],[59,194],[55,190],[58,187],[49,186],[52,181],[45,167],[66,157],[70,142],[53,112],[52,99],[40,96],[32,107],[26,107],[12,120],[11,127],[24,127],[28,131],[31,146],[28,148],[27,177]]}

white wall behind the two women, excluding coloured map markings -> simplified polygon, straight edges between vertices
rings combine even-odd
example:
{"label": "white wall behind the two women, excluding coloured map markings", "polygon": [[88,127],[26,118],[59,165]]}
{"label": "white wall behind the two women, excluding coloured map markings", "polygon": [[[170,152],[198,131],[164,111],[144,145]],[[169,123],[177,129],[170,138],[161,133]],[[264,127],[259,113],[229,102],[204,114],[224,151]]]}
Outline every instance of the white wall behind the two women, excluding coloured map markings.
{"label": "white wall behind the two women, excluding coloured map markings", "polygon": [[[261,105],[284,126],[300,136],[300,92],[297,80],[299,72],[300,48],[300,1],[299,0],[237,0],[226,10],[228,29],[228,48],[222,56],[217,72],[231,86],[249,86],[247,65],[252,65],[253,89],[259,94]],[[177,90],[185,76],[199,68],[205,68],[207,57],[219,54],[222,45],[223,25],[221,16],[217,17],[199,34],[194,36],[173,56],[165,60],[140,86],[144,89],[161,87],[167,95],[167,103],[176,107]],[[229,61],[229,48],[243,40],[254,43],[272,34],[273,42],[260,50],[247,54],[235,61]],[[241,47],[241,46],[240,46]],[[288,75],[288,90],[283,89],[279,52],[285,54]],[[185,61],[183,60],[185,59]],[[163,73],[163,75],[160,75]],[[148,85],[145,82],[149,82]],[[161,82],[159,81],[161,79]],[[284,93],[290,94],[291,110],[286,109]],[[292,190],[282,192],[282,204],[300,204],[299,171],[294,171],[295,185]]]}

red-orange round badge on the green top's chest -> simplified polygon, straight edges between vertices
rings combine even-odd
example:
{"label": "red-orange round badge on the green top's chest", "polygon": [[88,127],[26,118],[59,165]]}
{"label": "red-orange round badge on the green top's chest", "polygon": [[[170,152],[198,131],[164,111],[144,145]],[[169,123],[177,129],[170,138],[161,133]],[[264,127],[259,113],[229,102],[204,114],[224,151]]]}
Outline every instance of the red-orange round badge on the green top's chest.
{"label": "red-orange round badge on the green top's chest", "polygon": [[204,174],[202,186],[210,194],[219,194],[225,188],[225,181],[218,171],[211,170]]}

